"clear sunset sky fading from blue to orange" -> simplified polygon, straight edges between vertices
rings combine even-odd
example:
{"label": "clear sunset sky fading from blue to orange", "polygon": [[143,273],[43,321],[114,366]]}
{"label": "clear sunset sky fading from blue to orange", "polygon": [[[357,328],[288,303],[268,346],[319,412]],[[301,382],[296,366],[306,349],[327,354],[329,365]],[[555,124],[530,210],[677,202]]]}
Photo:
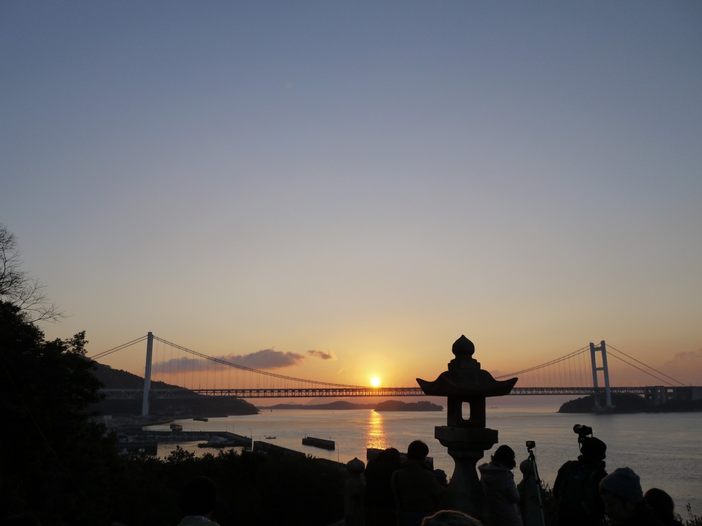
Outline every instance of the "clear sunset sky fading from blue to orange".
{"label": "clear sunset sky fading from blue to orange", "polygon": [[686,1],[2,2],[0,223],[89,355],[152,331],[406,386],[461,335],[494,375],[605,340],[702,385],[701,29]]}

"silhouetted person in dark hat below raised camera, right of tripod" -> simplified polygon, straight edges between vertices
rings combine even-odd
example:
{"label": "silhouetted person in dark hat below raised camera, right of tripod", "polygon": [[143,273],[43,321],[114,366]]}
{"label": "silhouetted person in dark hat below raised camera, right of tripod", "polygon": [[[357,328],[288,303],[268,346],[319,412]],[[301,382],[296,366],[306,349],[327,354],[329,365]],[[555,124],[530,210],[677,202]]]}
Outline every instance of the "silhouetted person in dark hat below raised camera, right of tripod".
{"label": "silhouetted person in dark hat below raised camera, right of tripod", "polygon": [[600,480],[607,476],[604,471],[607,445],[592,436],[585,436],[578,443],[578,459],[563,464],[553,483],[555,526],[602,526],[604,503],[600,498]]}

